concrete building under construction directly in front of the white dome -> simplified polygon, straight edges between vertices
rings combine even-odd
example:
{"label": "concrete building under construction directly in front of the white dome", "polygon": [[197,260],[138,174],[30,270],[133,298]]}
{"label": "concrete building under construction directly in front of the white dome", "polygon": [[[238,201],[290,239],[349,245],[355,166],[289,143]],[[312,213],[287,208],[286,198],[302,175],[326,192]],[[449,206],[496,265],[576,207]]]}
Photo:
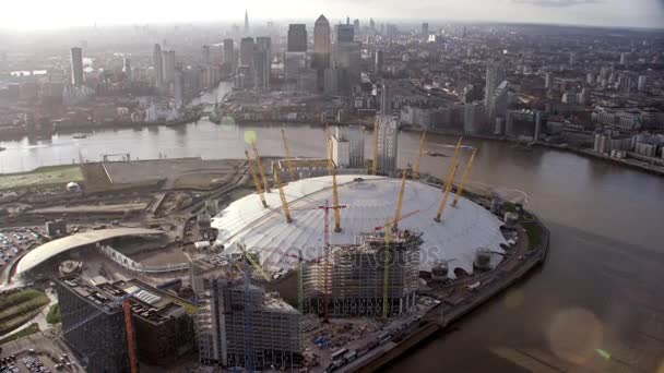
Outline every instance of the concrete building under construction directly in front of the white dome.
{"label": "concrete building under construction directly in front of the white dome", "polygon": [[325,298],[333,317],[384,315],[383,300],[388,316],[415,305],[422,234],[405,230],[390,236],[389,244],[382,232],[360,234],[358,244],[334,246],[327,270],[324,261],[305,266],[303,311],[322,314]]}

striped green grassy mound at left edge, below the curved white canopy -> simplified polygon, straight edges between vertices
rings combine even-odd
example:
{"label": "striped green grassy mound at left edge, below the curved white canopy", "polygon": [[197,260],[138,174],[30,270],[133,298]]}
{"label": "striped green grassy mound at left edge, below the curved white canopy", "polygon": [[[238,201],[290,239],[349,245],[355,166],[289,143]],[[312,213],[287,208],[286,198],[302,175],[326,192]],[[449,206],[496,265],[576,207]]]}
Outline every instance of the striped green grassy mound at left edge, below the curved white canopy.
{"label": "striped green grassy mound at left edge, below the curved white canopy", "polygon": [[0,335],[35,317],[49,303],[42,291],[27,289],[0,296]]}

